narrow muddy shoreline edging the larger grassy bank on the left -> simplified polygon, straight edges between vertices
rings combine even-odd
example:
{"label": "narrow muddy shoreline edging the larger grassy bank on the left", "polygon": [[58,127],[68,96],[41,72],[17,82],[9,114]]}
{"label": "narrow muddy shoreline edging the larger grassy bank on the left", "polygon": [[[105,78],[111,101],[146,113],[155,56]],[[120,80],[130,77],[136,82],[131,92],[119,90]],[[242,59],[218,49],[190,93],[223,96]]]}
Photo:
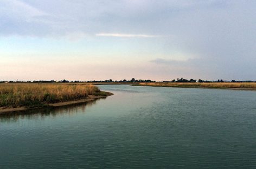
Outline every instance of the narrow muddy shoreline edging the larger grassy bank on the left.
{"label": "narrow muddy shoreline edging the larger grassy bank on the left", "polygon": [[[48,103],[47,106],[43,107],[43,108],[75,105],[75,104],[85,103],[85,102],[89,102],[89,101],[100,99],[100,98],[107,98],[108,96],[114,95],[113,93],[110,93],[110,92],[105,92],[105,93],[107,94],[105,96],[88,95],[88,97],[85,98],[85,99],[69,100],[69,101],[65,101],[65,102],[56,102],[56,103]],[[3,107],[0,107],[0,114],[27,111],[27,110],[32,110],[32,109],[42,109],[42,108],[41,107],[35,107],[35,108],[26,108],[26,107],[3,108]]]}

